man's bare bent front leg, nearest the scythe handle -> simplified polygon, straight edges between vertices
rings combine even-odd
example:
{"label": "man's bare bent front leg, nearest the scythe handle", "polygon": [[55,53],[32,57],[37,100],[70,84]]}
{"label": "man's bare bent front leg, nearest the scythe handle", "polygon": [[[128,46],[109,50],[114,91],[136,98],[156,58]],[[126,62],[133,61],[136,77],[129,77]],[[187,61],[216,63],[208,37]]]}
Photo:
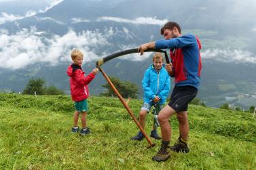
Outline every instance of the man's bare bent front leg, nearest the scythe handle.
{"label": "man's bare bent front leg, nearest the scythe handle", "polygon": [[175,114],[175,110],[168,105],[162,108],[158,114],[158,121],[160,123],[163,141],[170,141],[172,129],[170,127],[169,119],[173,114]]}

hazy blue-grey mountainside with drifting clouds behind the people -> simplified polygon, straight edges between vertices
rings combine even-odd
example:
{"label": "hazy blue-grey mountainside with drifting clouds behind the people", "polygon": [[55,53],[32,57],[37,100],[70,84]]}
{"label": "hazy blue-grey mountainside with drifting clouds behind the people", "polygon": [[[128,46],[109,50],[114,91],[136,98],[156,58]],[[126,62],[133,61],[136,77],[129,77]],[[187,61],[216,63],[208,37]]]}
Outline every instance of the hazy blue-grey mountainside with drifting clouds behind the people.
{"label": "hazy blue-grey mountainside with drifting clouds behind the people", "polygon": [[[234,106],[249,108],[256,102],[254,7],[253,1],[232,0],[64,0],[46,12],[0,24],[0,30],[8,32],[0,31],[0,40],[5,42],[0,42],[0,55],[27,55],[21,55],[25,59],[14,64],[7,62],[7,57],[1,59],[0,89],[22,91],[31,77],[42,77],[49,85],[69,93],[65,72],[71,49],[84,50],[88,58],[84,67],[90,72],[98,58],[162,39],[162,24],[174,20],[183,33],[197,35],[202,43],[202,85],[198,97],[209,106],[219,107],[231,101]],[[20,47],[14,46],[19,42]],[[27,47],[28,42],[35,47]],[[103,68],[108,75],[141,87],[149,64],[151,56],[128,56],[126,60],[110,61]],[[103,91],[103,83],[105,80],[98,75],[90,85],[91,93]]]}

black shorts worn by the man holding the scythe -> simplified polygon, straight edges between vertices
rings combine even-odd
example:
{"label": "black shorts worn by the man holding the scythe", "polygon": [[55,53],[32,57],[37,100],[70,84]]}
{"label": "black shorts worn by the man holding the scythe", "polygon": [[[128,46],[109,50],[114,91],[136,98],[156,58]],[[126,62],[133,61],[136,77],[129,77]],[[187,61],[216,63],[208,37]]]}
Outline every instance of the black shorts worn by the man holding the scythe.
{"label": "black shorts worn by the man holding the scythe", "polygon": [[196,97],[198,89],[193,86],[175,86],[168,105],[176,112],[187,111],[189,102]]}

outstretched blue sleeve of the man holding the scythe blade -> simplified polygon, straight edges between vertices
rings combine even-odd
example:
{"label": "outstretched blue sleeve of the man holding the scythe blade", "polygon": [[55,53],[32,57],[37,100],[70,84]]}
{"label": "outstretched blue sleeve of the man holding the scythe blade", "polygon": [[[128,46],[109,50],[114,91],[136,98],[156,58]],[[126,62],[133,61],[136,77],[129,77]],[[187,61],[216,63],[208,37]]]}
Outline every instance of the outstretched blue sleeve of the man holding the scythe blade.
{"label": "outstretched blue sleeve of the man holding the scythe blade", "polygon": [[194,35],[182,35],[174,39],[162,39],[155,43],[156,49],[176,49],[191,47],[193,45],[196,45],[196,37]]}

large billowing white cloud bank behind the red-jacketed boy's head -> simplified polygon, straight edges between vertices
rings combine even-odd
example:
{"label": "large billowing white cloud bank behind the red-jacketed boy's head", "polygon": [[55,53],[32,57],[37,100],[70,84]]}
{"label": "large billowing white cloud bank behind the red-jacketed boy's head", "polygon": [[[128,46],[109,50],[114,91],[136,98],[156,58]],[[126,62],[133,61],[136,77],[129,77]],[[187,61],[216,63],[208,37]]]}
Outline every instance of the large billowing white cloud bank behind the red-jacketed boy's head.
{"label": "large billowing white cloud bank behind the red-jacketed boy's head", "polygon": [[[39,32],[35,27],[22,29],[15,35],[7,30],[0,30],[0,68],[17,70],[26,68],[31,64],[50,64],[52,66],[71,62],[70,53],[72,49],[78,48],[84,53],[85,62],[91,62],[103,58],[117,51],[136,48],[138,45],[116,45],[109,40],[113,37],[130,39],[132,34],[128,28],[105,28],[103,33],[99,30],[84,30],[75,33],[69,30],[63,36],[54,35],[50,38],[43,37],[45,32]],[[115,51],[109,52],[112,49]],[[120,59],[145,60],[151,53],[143,56],[132,54]]]}

